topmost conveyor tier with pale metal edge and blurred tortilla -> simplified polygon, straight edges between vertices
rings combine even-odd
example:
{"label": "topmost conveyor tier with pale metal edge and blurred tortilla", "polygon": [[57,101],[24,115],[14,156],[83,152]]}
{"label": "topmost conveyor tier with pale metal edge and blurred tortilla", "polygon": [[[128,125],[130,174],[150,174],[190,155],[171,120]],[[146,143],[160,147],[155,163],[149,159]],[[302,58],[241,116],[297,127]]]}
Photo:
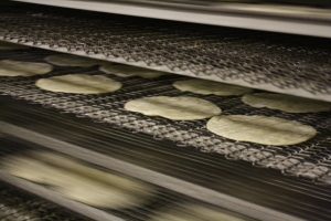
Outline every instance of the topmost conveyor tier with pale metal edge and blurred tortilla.
{"label": "topmost conveyor tier with pale metal edge and blurred tortilla", "polygon": [[331,38],[331,8],[330,2],[324,0],[19,1],[145,18]]}

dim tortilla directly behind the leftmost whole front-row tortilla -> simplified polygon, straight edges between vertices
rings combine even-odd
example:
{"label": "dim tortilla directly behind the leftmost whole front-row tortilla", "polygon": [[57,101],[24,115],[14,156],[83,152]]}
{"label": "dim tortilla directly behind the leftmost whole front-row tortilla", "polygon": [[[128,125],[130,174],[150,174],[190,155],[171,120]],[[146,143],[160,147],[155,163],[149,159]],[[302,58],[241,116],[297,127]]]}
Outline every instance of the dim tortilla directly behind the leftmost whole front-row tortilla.
{"label": "dim tortilla directly behind the leftmost whole front-row tortilla", "polygon": [[100,61],[84,56],[76,56],[71,54],[55,54],[45,57],[45,61],[57,66],[94,66],[98,65]]}

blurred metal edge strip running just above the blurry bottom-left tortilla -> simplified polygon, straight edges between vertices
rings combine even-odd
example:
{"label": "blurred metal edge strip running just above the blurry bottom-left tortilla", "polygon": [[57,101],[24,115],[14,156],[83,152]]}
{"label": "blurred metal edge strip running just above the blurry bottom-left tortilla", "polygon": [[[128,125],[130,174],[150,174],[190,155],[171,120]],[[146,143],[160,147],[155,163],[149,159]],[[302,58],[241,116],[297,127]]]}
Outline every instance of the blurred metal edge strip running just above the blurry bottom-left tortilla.
{"label": "blurred metal edge strip running just above the blurry bottom-left tortilla", "polygon": [[0,131],[257,220],[303,220],[301,218],[234,198],[174,177],[162,175],[160,172],[105,156],[2,120],[0,120]]}

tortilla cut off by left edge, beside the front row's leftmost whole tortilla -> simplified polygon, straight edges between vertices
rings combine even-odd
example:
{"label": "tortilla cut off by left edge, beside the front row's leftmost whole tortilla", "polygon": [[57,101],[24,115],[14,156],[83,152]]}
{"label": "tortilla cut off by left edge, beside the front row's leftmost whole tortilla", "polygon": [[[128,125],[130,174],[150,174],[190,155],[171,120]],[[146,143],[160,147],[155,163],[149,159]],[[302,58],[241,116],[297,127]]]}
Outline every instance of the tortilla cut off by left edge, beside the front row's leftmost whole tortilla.
{"label": "tortilla cut off by left edge, beside the front row's leftmost whole tortilla", "polygon": [[0,76],[33,76],[46,74],[53,66],[46,63],[22,62],[13,60],[0,61]]}

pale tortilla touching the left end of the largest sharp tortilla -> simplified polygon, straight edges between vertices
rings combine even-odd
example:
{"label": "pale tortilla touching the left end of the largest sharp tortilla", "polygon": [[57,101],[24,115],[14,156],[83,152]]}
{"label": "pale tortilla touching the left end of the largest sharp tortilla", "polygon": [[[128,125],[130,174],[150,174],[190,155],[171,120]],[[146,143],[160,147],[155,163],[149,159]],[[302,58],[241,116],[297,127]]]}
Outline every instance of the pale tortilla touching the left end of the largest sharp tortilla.
{"label": "pale tortilla touching the left end of the largest sharp tortilla", "polygon": [[177,120],[204,119],[221,114],[221,108],[213,103],[189,96],[143,97],[126,103],[125,108]]}

